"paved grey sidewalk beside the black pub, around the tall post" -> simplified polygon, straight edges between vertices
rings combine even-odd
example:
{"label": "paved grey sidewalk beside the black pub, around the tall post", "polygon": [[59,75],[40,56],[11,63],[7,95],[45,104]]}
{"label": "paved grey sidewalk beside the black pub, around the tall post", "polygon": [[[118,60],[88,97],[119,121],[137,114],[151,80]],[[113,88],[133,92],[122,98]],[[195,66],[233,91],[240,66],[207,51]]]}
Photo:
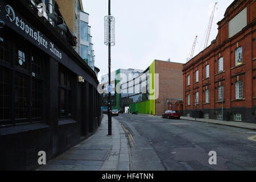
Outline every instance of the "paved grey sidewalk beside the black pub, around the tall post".
{"label": "paved grey sidewalk beside the black pub, around the tall post", "polygon": [[129,148],[125,131],[112,117],[112,136],[109,136],[108,116],[104,115],[101,126],[94,135],[37,170],[129,171],[129,165]]}

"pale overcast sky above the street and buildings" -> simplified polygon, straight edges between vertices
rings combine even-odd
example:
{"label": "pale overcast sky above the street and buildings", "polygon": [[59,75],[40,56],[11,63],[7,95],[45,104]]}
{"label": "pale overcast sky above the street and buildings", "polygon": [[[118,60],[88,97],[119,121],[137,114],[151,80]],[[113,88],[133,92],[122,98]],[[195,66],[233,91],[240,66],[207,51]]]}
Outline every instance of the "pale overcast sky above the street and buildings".
{"label": "pale overcast sky above the street and buildings", "polygon": [[[205,33],[216,0],[111,0],[115,17],[115,46],[112,47],[112,71],[146,69],[154,60],[186,63],[196,35],[193,56],[203,50]],[[224,18],[233,0],[218,1],[209,43],[218,34],[217,22]],[[98,80],[108,73],[108,46],[104,44],[104,16],[108,0],[82,0],[89,13],[89,25]],[[200,49],[201,48],[201,49]]]}

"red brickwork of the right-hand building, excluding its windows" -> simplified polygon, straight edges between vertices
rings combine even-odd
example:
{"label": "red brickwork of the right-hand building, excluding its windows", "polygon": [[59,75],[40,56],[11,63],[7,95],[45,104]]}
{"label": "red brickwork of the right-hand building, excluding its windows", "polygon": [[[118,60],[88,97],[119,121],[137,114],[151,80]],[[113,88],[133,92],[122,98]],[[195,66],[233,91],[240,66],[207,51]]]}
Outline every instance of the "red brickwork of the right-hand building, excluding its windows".
{"label": "red brickwork of the right-hand building, excluding its windows", "polygon": [[[235,7],[233,7],[235,6]],[[195,96],[199,92],[198,110],[203,114],[214,110],[210,118],[216,119],[222,104],[218,102],[218,86],[224,86],[224,118],[233,121],[234,114],[242,114],[242,121],[256,122],[256,41],[255,41],[255,9],[256,1],[234,1],[226,10],[225,18],[218,22],[218,36],[207,49],[193,57],[183,69],[183,109],[187,113],[195,110]],[[241,10],[247,7],[247,26],[232,38],[228,39],[228,22]],[[253,16],[251,16],[253,15]],[[254,20],[254,22],[253,22]],[[242,64],[236,66],[236,49],[242,47]],[[218,73],[218,59],[224,59],[224,72]],[[205,66],[209,64],[210,77],[205,77]],[[199,71],[199,82],[195,81],[195,72]],[[190,75],[191,84],[187,79]],[[236,82],[243,82],[243,98],[236,100]],[[209,89],[210,102],[205,103],[205,90]],[[190,94],[190,105],[187,105]],[[239,111],[240,110],[240,111]]]}

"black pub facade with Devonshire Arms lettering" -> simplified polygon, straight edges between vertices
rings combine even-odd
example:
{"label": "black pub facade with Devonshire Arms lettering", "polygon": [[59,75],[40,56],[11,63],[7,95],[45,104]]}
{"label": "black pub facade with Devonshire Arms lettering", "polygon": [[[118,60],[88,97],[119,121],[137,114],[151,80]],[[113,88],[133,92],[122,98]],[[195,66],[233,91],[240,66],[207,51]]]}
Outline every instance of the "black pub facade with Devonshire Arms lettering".
{"label": "black pub facade with Devonshire Arms lettering", "polygon": [[[54,0],[0,1],[0,170],[39,167],[92,135],[101,123],[96,73]],[[61,22],[63,20],[63,22]]]}

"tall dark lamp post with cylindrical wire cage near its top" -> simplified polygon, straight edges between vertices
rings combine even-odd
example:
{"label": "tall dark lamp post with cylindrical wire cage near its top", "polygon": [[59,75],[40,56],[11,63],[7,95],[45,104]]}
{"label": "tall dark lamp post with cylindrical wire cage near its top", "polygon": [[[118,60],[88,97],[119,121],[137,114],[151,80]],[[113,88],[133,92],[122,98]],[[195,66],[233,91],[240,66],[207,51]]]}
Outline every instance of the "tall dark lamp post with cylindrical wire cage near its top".
{"label": "tall dark lamp post with cylindrical wire cage near its top", "polygon": [[111,117],[111,107],[112,107],[112,101],[111,101],[111,90],[110,90],[110,84],[111,84],[111,73],[110,73],[110,68],[111,68],[111,46],[115,45],[115,36],[114,36],[114,23],[115,23],[115,18],[114,16],[111,16],[110,13],[110,0],[109,0],[109,15],[105,16],[105,39],[104,39],[104,44],[108,46],[109,48],[109,86],[108,86],[108,135],[112,135],[112,117]]}

